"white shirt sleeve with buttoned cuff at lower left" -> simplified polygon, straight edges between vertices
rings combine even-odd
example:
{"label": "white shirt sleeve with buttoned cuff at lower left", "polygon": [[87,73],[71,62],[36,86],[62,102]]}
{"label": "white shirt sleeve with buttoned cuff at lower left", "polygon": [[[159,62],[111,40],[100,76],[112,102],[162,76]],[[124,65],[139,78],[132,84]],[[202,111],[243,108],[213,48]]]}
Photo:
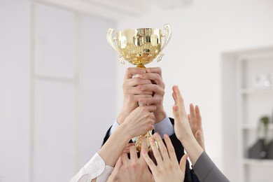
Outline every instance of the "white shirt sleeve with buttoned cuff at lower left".
{"label": "white shirt sleeve with buttoned cuff at lower left", "polygon": [[87,164],[80,169],[76,176],[73,176],[70,182],[90,182],[92,179],[97,178],[97,182],[107,181],[113,167],[105,165],[104,160],[95,153]]}

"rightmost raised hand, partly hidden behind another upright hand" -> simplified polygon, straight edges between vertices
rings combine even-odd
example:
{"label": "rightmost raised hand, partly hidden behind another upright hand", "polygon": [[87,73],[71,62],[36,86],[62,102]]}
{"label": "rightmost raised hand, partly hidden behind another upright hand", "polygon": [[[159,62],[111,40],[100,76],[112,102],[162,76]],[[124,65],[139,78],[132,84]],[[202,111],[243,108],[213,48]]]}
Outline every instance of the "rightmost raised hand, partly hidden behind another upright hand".
{"label": "rightmost raised hand, partly hidden behind another upright hand", "polygon": [[192,129],[195,139],[205,151],[204,132],[199,106],[193,106],[193,104],[190,104],[190,114],[188,114],[188,120],[190,122],[190,128]]}

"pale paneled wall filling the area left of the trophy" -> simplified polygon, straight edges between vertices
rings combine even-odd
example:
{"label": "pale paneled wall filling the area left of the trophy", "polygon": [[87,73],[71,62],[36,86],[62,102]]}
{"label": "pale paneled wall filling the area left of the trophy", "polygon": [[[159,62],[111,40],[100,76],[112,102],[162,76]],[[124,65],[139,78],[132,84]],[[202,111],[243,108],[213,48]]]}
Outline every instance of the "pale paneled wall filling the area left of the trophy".
{"label": "pale paneled wall filling the area left of the trophy", "polygon": [[0,181],[69,181],[116,117],[116,22],[1,0],[0,27]]}

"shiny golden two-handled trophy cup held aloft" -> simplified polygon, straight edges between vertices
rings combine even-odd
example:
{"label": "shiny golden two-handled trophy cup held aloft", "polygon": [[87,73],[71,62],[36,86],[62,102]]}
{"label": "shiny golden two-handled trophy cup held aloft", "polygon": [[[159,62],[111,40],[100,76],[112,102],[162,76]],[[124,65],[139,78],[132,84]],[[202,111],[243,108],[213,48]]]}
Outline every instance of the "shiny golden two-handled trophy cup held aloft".
{"label": "shiny golden two-handled trophy cup held aloft", "polygon": [[[106,37],[112,48],[119,53],[118,59],[121,63],[124,64],[125,59],[139,68],[146,68],[144,64],[152,62],[155,57],[158,57],[159,62],[164,55],[162,50],[169,43],[172,36],[170,25],[164,25],[164,28],[165,34],[162,34],[160,29],[153,28],[125,29],[118,31],[116,37],[112,37],[114,29],[108,29]],[[162,44],[163,37],[165,41]],[[151,151],[151,131],[139,136],[136,141],[137,151],[141,150],[141,137],[143,136],[146,137],[148,149]]]}

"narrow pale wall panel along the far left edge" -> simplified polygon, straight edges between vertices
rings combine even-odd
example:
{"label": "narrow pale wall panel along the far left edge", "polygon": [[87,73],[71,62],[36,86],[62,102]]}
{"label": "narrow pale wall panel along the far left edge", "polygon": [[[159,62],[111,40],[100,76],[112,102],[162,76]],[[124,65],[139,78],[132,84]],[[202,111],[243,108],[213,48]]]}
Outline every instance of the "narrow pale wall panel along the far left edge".
{"label": "narrow pale wall panel along the far left edge", "polygon": [[27,1],[0,1],[0,181],[29,181],[31,27]]}

